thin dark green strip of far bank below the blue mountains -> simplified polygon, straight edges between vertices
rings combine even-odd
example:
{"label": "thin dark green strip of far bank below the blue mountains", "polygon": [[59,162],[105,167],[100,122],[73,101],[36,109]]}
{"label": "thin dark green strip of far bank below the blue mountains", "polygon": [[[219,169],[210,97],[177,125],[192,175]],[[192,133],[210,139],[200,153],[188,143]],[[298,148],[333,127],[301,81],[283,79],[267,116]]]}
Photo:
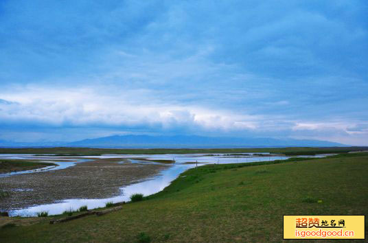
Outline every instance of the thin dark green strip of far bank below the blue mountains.
{"label": "thin dark green strip of far bank below the blue mountains", "polygon": [[271,152],[286,155],[333,154],[368,150],[368,147],[290,147],[290,148],[152,148],[152,149],[108,149],[108,148],[0,148],[0,154],[57,154],[58,156],[97,155],[97,154],[218,154]]}

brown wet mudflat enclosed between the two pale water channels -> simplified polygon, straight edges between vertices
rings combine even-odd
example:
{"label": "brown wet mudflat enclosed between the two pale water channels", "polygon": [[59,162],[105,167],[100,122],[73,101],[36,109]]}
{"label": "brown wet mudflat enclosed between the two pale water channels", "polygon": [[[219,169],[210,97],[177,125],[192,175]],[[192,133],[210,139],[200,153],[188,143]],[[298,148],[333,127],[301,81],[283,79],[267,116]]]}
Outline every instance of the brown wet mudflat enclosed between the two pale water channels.
{"label": "brown wet mudflat enclosed between the two pale water channels", "polygon": [[[80,158],[78,158],[80,159]],[[55,203],[72,198],[109,198],[119,187],[152,178],[168,165],[118,163],[124,159],[95,159],[63,170],[19,174],[0,178],[0,211]]]}

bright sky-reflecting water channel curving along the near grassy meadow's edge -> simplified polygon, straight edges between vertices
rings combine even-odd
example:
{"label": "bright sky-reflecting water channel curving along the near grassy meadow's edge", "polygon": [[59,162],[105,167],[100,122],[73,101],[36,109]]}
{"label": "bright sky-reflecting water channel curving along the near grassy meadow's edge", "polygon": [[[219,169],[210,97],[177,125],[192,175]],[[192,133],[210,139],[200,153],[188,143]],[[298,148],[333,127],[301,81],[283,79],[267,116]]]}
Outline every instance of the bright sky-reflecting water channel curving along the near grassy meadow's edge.
{"label": "bright sky-reflecting water channel curving along the near grassy meadow's edge", "polygon": [[[249,155],[248,155],[249,154]],[[179,176],[185,170],[189,168],[196,167],[196,164],[187,164],[187,162],[196,162],[198,161],[198,166],[205,165],[208,163],[250,163],[257,161],[275,161],[278,159],[289,159],[290,157],[283,157],[277,154],[269,154],[269,153],[256,153],[262,154],[262,156],[255,155],[255,153],[247,153],[247,155],[231,155],[227,156],[227,154],[104,154],[102,156],[85,156],[83,158],[100,158],[100,159],[108,159],[108,158],[122,158],[128,159],[128,161],[124,160],[118,163],[159,163],[156,162],[158,160],[168,160],[175,161],[170,165],[167,165],[167,169],[163,170],[159,176],[155,176],[154,178],[149,179],[148,181],[141,181],[132,185],[128,185],[126,187],[121,187],[121,194],[119,196],[114,196],[111,198],[102,198],[102,199],[68,199],[63,200],[62,202],[52,203],[49,205],[36,205],[34,207],[29,207],[27,209],[18,209],[14,211],[10,211],[10,216],[35,216],[37,212],[40,211],[48,211],[49,215],[60,214],[65,210],[69,209],[78,209],[84,205],[87,205],[88,209],[95,209],[97,207],[104,207],[107,202],[119,203],[122,201],[130,200],[130,195],[135,193],[141,193],[144,196],[148,196],[151,194],[155,194],[160,192],[162,189],[167,187],[174,179]],[[326,157],[329,154],[319,154],[317,156],[299,156],[299,157]],[[28,159],[30,159],[30,154],[26,155]],[[19,159],[24,157],[19,157]],[[34,157],[33,157],[34,158]],[[58,158],[59,159],[59,158]],[[140,160],[144,159],[144,160]],[[154,160],[154,161],[150,161]],[[73,162],[62,162],[60,163],[64,165],[65,163],[78,163],[87,161],[87,159],[81,159],[80,161]],[[57,163],[57,162],[53,162]],[[69,165],[71,166],[71,165]],[[68,167],[69,167],[68,166]],[[50,169],[52,170],[52,169]]]}

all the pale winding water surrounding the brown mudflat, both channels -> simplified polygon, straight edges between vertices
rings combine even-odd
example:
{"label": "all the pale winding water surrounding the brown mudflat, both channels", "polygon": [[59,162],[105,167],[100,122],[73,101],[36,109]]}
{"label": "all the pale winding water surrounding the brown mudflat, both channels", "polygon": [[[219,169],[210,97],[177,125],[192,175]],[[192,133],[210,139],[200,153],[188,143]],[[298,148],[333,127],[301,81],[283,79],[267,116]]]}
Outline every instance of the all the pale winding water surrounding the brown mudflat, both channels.
{"label": "all the pale winding water surrounding the brown mudflat, both channels", "polygon": [[[318,154],[316,156],[299,156],[299,157],[326,157],[329,154]],[[280,154],[269,153],[246,153],[246,154],[103,154],[101,156],[83,156],[78,158],[71,157],[51,157],[49,154],[36,156],[34,154],[0,154],[0,159],[25,159],[42,162],[55,163],[56,166],[47,166],[37,170],[28,170],[23,172],[11,172],[0,174],[1,179],[16,174],[32,174],[45,173],[51,170],[64,170],[75,166],[77,163],[93,161],[95,159],[117,159],[116,163],[139,164],[141,166],[147,164],[164,165],[163,170],[155,174],[151,178],[138,180],[135,183],[119,188],[119,194],[108,198],[72,198],[65,200],[56,200],[54,203],[32,205],[26,208],[14,208],[9,211],[10,216],[36,216],[36,213],[47,211],[49,215],[60,214],[70,209],[78,209],[87,205],[88,209],[104,207],[106,203],[119,203],[130,200],[130,195],[141,193],[144,196],[155,194],[170,185],[175,178],[182,172],[192,167],[216,163],[250,163],[257,161],[275,161],[279,159],[289,159],[290,157],[281,156]],[[121,161],[119,161],[121,159]],[[167,162],[167,163],[165,163]],[[122,175],[123,176],[123,175]],[[30,189],[32,191],[32,189]],[[16,188],[13,189],[16,191]]]}

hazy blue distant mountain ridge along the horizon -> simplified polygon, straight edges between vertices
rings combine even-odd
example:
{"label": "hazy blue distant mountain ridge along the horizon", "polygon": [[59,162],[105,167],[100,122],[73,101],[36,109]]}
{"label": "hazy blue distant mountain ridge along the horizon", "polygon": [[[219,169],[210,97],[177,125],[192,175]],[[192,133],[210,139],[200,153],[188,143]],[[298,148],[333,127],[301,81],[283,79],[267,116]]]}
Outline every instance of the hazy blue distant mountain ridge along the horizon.
{"label": "hazy blue distant mountain ridge along the horizon", "polygon": [[241,137],[203,137],[196,135],[150,136],[115,135],[74,142],[22,143],[0,140],[0,147],[91,147],[91,148],[264,148],[264,147],[332,147],[346,146],[331,141]]}

